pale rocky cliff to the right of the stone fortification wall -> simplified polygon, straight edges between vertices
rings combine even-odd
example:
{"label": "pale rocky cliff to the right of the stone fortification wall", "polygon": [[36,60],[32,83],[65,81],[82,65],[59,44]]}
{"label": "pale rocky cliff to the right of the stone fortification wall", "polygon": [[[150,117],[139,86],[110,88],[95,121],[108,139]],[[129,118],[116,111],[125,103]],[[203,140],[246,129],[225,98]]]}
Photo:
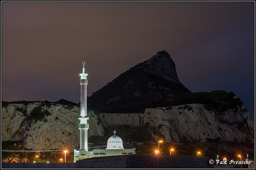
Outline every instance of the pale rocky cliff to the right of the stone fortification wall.
{"label": "pale rocky cliff to the right of the stone fortification wall", "polygon": [[[222,113],[208,110],[203,104],[149,108],[144,113],[144,125],[158,131],[155,140],[168,142],[240,141],[254,137],[254,122],[244,105]],[[152,132],[151,132],[152,133]]]}

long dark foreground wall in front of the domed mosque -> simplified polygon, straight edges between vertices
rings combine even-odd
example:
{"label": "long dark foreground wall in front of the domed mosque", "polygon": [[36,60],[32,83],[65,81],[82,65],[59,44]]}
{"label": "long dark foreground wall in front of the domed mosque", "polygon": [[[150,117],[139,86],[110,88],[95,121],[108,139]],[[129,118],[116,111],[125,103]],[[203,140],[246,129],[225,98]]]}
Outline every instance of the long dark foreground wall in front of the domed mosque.
{"label": "long dark foreground wall in front of the domed mosque", "polygon": [[78,160],[76,168],[214,168],[210,159],[186,155],[120,155]]}

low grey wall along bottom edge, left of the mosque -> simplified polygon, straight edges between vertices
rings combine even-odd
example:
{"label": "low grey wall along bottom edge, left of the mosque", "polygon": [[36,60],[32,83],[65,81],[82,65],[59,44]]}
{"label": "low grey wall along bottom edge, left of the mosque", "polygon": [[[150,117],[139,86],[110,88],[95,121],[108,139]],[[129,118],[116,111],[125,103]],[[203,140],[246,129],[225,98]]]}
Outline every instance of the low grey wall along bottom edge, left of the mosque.
{"label": "low grey wall along bottom edge, left of the mosque", "polygon": [[75,168],[76,163],[7,163],[2,162],[1,168]]}

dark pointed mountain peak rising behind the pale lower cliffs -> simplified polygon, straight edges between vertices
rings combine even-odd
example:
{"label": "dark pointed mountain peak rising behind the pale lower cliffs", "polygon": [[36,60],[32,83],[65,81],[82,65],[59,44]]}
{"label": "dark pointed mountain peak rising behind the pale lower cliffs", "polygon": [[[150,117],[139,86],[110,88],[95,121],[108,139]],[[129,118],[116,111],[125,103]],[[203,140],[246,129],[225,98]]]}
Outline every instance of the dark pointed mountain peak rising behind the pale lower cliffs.
{"label": "dark pointed mountain peak rising behind the pale lower cliffs", "polygon": [[176,67],[166,51],[120,74],[92,94],[88,106],[102,112],[139,113],[150,104],[190,93],[179,81]]}

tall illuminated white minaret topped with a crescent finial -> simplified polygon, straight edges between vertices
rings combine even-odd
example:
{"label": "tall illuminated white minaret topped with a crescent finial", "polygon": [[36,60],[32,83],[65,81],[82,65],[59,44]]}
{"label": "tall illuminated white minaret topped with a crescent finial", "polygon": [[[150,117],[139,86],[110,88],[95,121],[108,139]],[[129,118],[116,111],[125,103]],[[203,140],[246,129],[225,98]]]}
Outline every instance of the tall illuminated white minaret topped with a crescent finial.
{"label": "tall illuminated white minaret topped with a crescent finial", "polygon": [[85,62],[82,62],[83,64],[83,72],[79,74],[81,76],[80,78],[80,124],[78,125],[78,128],[80,130],[80,151],[79,156],[86,155],[86,151],[88,151],[88,137],[87,137],[87,131],[89,129],[89,125],[87,123],[87,120],[89,119],[87,117],[87,79],[86,76],[88,74],[84,71],[84,64]]}

